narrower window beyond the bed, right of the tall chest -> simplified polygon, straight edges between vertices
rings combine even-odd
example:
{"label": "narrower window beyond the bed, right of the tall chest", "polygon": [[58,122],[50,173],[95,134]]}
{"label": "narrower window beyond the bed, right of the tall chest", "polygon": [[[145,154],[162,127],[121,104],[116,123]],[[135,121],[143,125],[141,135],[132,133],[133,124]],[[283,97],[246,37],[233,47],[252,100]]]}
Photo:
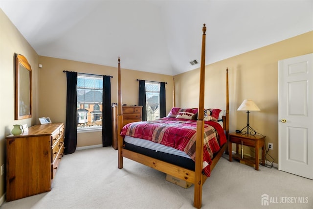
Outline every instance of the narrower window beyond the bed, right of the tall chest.
{"label": "narrower window beyond the bed, right of the tall chest", "polygon": [[145,82],[147,120],[155,120],[160,117],[160,83]]}

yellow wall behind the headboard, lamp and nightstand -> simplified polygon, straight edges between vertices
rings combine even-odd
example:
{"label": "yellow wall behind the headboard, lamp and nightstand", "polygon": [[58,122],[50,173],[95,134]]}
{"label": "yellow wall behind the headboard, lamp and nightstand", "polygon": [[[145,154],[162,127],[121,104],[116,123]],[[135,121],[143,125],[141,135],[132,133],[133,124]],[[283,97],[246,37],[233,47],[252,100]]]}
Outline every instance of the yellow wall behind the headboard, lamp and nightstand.
{"label": "yellow wall behind the headboard, lamp and nightstand", "polygon": [[[204,107],[225,109],[225,69],[228,68],[230,132],[246,126],[246,112],[236,110],[244,99],[253,99],[261,111],[251,112],[249,123],[257,132],[266,135],[266,143],[273,143],[269,155],[277,163],[278,61],[312,52],[313,31],[207,65]],[[199,73],[196,69],[174,77],[176,106],[198,107]]]}

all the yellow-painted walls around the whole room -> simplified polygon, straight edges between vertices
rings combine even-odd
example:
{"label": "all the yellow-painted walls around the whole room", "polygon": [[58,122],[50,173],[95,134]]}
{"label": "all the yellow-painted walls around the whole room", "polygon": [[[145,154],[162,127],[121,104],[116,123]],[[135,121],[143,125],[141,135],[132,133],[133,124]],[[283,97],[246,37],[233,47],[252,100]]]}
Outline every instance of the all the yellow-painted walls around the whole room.
{"label": "all the yellow-painted walls around the whole room", "polygon": [[[273,143],[274,149],[269,154],[277,163],[277,62],[312,52],[313,31],[206,66],[205,107],[225,107],[225,69],[228,67],[230,131],[246,125],[246,113],[236,109],[244,99],[253,99],[261,111],[250,114],[250,124],[267,136],[267,142]],[[33,116],[29,119],[14,120],[14,53],[24,55],[33,70]],[[43,65],[42,69],[38,69],[39,63]],[[13,124],[32,126],[38,124],[38,117],[42,116],[49,116],[52,122],[65,122],[66,74],[63,70],[112,75],[112,102],[117,102],[116,67],[38,56],[0,9],[0,165],[5,163],[5,137],[10,134]],[[123,103],[137,104],[136,79],[167,82],[166,112],[169,112],[172,76],[122,69]],[[199,69],[176,75],[175,90],[177,107],[197,107]],[[78,136],[78,147],[95,144],[101,144],[101,132]],[[0,177],[0,204],[4,201],[4,178],[5,175]]]}

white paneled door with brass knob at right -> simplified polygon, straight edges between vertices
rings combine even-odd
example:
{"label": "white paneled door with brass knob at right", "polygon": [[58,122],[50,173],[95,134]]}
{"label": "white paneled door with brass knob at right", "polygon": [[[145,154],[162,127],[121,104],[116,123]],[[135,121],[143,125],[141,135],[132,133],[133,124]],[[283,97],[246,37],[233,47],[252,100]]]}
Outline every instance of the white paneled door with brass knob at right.
{"label": "white paneled door with brass knob at right", "polygon": [[278,169],[313,179],[313,53],[278,62]]}

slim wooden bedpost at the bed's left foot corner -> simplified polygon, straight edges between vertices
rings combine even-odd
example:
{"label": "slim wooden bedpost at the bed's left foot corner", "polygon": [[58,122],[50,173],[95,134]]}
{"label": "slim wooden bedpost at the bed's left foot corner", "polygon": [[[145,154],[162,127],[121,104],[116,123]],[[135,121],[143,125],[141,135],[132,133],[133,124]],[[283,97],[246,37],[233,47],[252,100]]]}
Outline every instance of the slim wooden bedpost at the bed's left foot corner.
{"label": "slim wooden bedpost at the bed's left foot corner", "polygon": [[122,91],[121,91],[121,64],[118,57],[118,103],[117,103],[117,147],[118,147],[118,168],[123,168],[123,138],[120,135],[123,125]]}

